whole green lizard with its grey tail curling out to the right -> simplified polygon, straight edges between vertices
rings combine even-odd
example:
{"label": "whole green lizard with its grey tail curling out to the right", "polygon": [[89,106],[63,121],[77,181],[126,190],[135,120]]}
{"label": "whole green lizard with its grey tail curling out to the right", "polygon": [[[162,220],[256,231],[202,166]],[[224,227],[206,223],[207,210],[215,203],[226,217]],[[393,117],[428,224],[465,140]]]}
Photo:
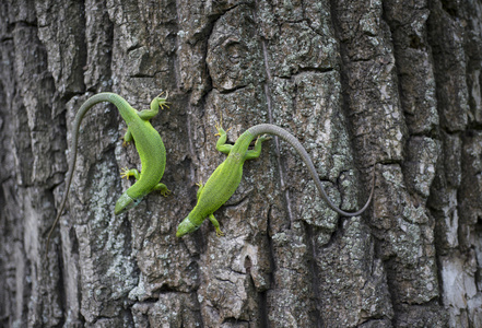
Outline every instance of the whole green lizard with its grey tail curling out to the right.
{"label": "whole green lizard with its grey tail curling out to the right", "polygon": [[[223,203],[225,203],[234,191],[239,186],[242,176],[243,176],[243,164],[246,160],[252,160],[259,157],[261,154],[261,143],[267,140],[269,137],[266,134],[274,134],[290,143],[296,152],[302,156],[303,162],[305,162],[308,171],[315,180],[316,186],[318,187],[321,197],[328,203],[328,206],[334,210],[337,213],[344,216],[355,216],[360,215],[365,211],[372,200],[375,183],[372,186],[372,191],[369,194],[368,200],[365,206],[356,211],[356,212],[345,212],[339,209],[327,196],[325,189],[321,185],[321,181],[318,178],[318,174],[315,169],[315,165],[309,159],[308,153],[299,143],[299,141],[293,137],[286,130],[269,125],[257,125],[248,130],[246,130],[233,144],[226,144],[227,134],[226,131],[223,130],[221,126],[216,125],[218,133],[215,136],[220,136],[216,142],[216,149],[227,154],[226,160],[221,163],[220,166],[214,171],[214,173],[210,176],[205,185],[201,183],[198,184],[199,190],[197,194],[198,203],[192,209],[192,211],[188,214],[186,219],[179,223],[176,232],[176,236],[180,237],[185,234],[191,233],[196,231],[201,223],[209,218],[216,230],[216,235],[221,236],[223,233],[220,230],[220,223],[214,218],[213,212],[216,211]],[[260,136],[260,137],[259,137]],[[248,150],[250,142],[258,137],[255,143],[254,150]],[[374,181],[375,181],[375,171],[374,171]]]}

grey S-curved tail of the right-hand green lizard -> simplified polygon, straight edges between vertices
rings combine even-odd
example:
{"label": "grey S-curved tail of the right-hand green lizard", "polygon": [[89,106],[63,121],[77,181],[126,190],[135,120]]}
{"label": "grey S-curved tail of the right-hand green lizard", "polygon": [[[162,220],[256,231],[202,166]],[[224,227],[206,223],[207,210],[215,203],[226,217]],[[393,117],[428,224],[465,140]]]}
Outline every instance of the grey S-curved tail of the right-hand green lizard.
{"label": "grey S-curved tail of the right-hand green lizard", "polygon": [[252,138],[256,138],[257,136],[266,134],[266,133],[273,134],[273,136],[280,137],[284,141],[290,143],[296,150],[296,152],[299,154],[299,156],[302,156],[303,162],[305,162],[306,166],[308,167],[309,174],[311,175],[311,178],[315,181],[316,187],[318,188],[318,191],[321,195],[321,197],[325,199],[325,201],[328,203],[328,206],[333,211],[336,211],[337,213],[339,213],[341,215],[344,215],[344,216],[356,216],[356,215],[362,214],[368,208],[368,206],[369,206],[369,203],[372,201],[372,198],[373,198],[374,190],[375,190],[375,167],[373,169],[372,191],[369,192],[368,200],[363,206],[363,208],[361,208],[356,212],[346,212],[346,211],[343,211],[340,208],[338,208],[328,198],[328,195],[325,191],[324,186],[321,185],[321,181],[320,181],[320,179],[318,177],[318,173],[316,172],[316,168],[315,168],[315,165],[311,162],[311,159],[309,157],[309,155],[306,152],[305,148],[299,143],[299,141],[293,134],[291,134],[290,132],[287,132],[283,128],[280,128],[280,127],[274,126],[274,125],[269,125],[269,124],[262,124],[262,125],[257,125],[257,126],[250,127],[247,130],[247,132],[252,134]]}

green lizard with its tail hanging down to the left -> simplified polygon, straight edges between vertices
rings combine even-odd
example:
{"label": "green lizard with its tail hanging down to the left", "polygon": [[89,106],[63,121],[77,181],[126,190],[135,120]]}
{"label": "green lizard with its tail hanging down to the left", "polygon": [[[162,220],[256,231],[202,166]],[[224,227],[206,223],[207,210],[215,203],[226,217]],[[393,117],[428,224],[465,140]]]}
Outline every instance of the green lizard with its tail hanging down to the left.
{"label": "green lizard with its tail hanging down to the left", "polygon": [[77,161],[77,145],[79,140],[80,125],[89,109],[98,103],[109,102],[119,109],[120,116],[124,118],[128,127],[126,134],[124,136],[122,145],[126,145],[133,140],[139,156],[141,157],[142,165],[141,173],[139,173],[136,168],[122,168],[121,177],[129,178],[130,176],[133,176],[137,181],[119,197],[116,202],[114,213],[117,215],[136,207],[145,195],[153,190],[160,190],[163,196],[171,194],[167,187],[160,183],[166,166],[166,149],[164,148],[161,136],[149,121],[151,118],[157,115],[160,107],[161,109],[164,109],[164,106],[168,107],[166,105],[167,94],[166,97],[161,97],[161,95],[162,94],[156,96],[151,102],[151,109],[144,109],[141,112],[132,108],[121,96],[108,92],[99,93],[90,97],[80,107],[72,125],[72,154],[70,156],[70,168],[67,177],[66,191],[63,194],[60,209],[57,212],[57,218],[54,221],[47,236],[47,254],[51,234],[54,233],[54,229],[62,214],[63,208],[66,207],[67,197],[69,195],[70,184],[72,181]]}

